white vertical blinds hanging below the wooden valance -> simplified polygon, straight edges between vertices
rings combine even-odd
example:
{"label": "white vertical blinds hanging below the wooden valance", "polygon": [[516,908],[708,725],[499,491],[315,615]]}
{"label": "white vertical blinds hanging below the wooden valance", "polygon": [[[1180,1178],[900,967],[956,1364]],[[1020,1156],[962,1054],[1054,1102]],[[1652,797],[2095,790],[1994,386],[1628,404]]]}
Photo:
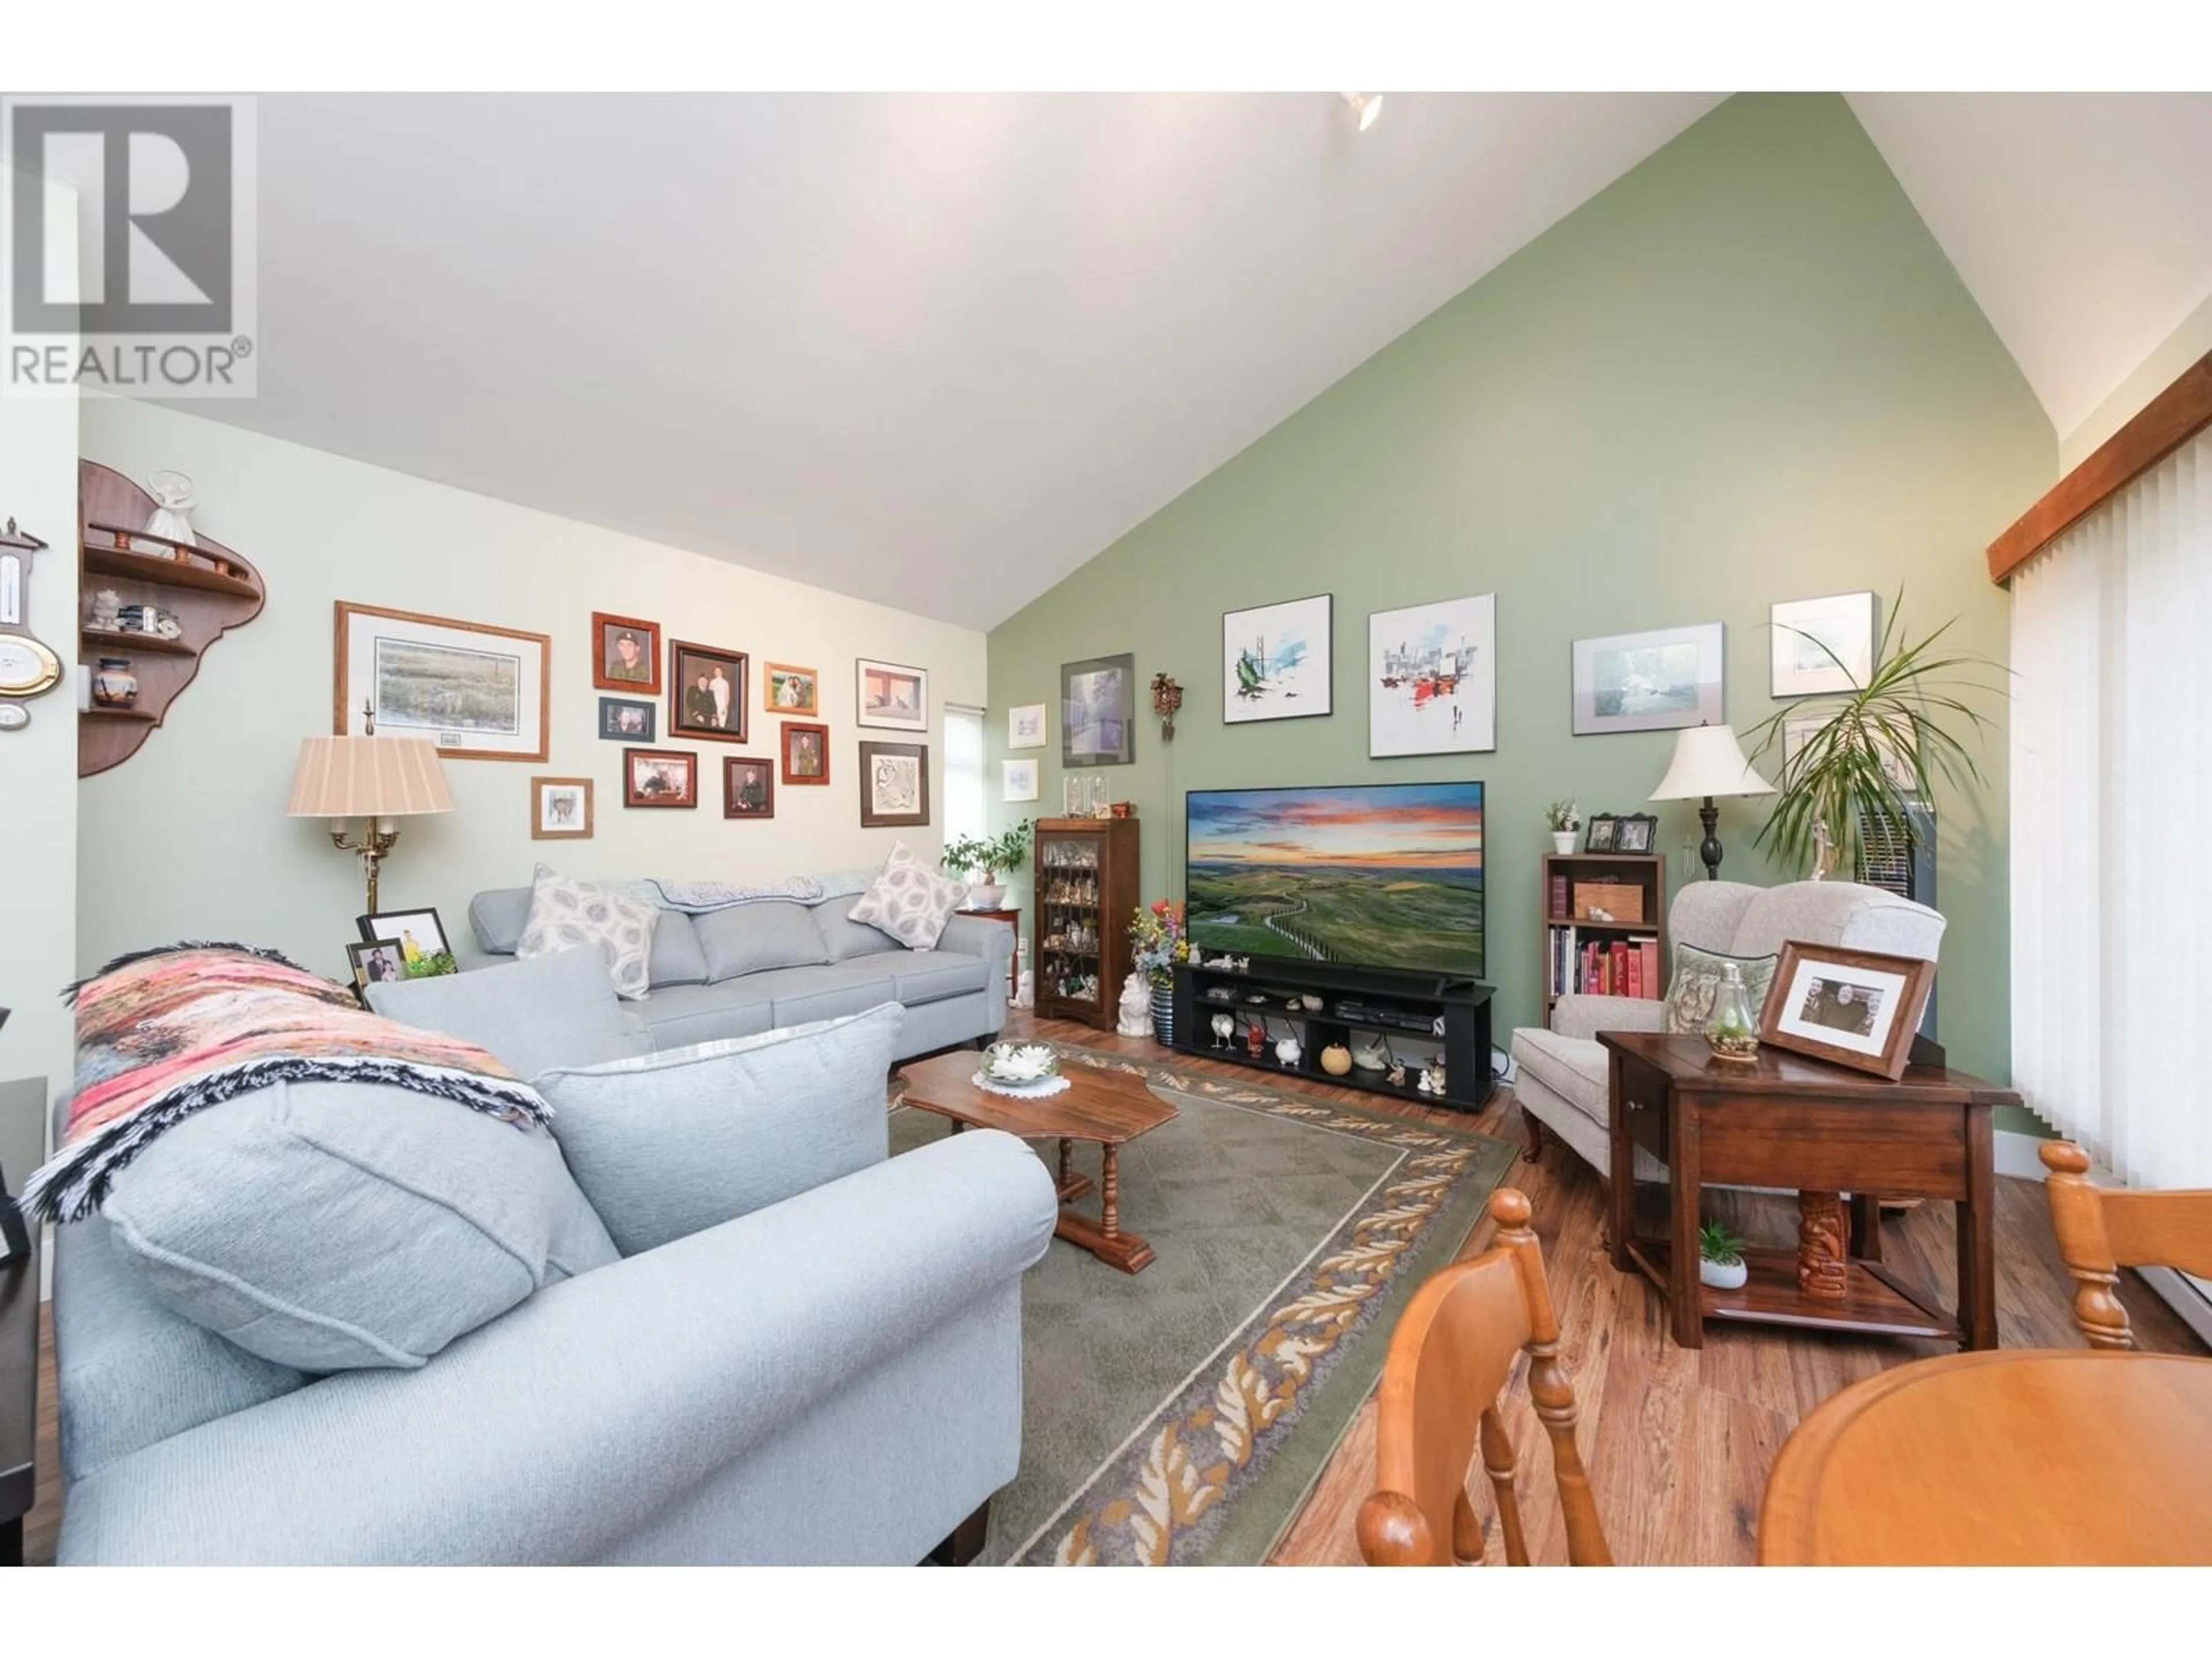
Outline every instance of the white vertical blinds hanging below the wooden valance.
{"label": "white vertical blinds hanging below the wooden valance", "polygon": [[2212,1186],[2212,431],[2013,575],[2013,1084],[2130,1186]]}

